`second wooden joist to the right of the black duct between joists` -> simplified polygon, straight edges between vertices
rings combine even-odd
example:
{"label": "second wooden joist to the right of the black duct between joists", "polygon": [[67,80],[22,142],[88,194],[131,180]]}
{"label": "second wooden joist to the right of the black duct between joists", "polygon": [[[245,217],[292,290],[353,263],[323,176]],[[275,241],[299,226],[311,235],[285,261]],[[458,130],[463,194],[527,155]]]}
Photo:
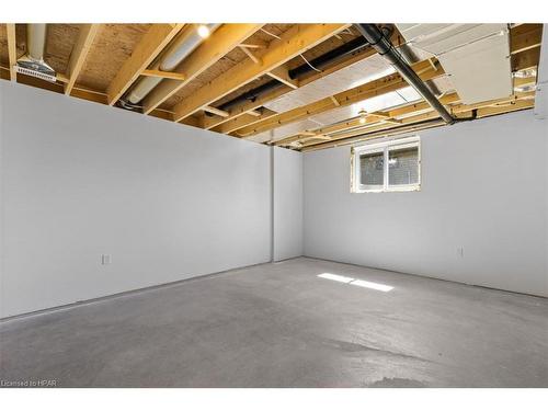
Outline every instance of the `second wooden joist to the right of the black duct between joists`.
{"label": "second wooden joist to the right of the black duct between joists", "polygon": [[[415,62],[412,68],[423,81],[432,80],[445,73],[438,64],[437,69],[432,68],[429,60]],[[269,119],[265,119],[264,122],[244,127],[238,130],[238,135],[250,137],[258,133],[266,132],[285,124],[295,123],[311,115],[329,112],[338,106],[347,106],[366,99],[386,94],[390,91],[403,89],[406,87],[408,87],[408,83],[399,73],[388,75],[380,79],[369,81],[365,84],[361,84],[335,94],[334,98],[339,102],[339,105],[335,105],[331,96],[328,96],[313,103],[289,110],[285,113],[279,113]]]}

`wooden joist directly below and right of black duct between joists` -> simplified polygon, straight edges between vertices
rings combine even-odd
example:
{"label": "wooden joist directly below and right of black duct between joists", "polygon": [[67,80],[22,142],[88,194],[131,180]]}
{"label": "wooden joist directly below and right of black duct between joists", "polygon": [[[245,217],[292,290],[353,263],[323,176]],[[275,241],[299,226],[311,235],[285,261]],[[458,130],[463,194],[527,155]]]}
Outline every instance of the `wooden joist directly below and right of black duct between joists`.
{"label": "wooden joist directly below and right of black duct between joists", "polygon": [[[402,44],[403,39],[400,37],[400,35],[395,31],[391,36],[391,42],[393,45],[399,46]],[[312,71],[305,77],[299,79],[299,87],[304,87],[308,83],[311,83],[316,80],[319,80],[326,76],[332,75],[335,71],[342,70],[345,67],[352,66],[358,61],[362,61],[373,55],[375,55],[376,52],[373,47],[366,47],[362,48],[361,50],[353,53],[352,55],[343,57],[341,60],[334,62],[333,65],[322,69],[321,71]],[[244,103],[241,103],[237,105],[236,107],[230,110],[230,115],[227,118],[219,118],[219,117],[204,117],[202,119],[202,123],[204,124],[204,128],[206,129],[212,129],[219,124],[222,124],[225,122],[228,122],[229,119],[236,118],[240,115],[243,115],[248,113],[250,110],[256,110],[261,106],[263,106],[265,103],[277,99],[281,95],[284,95],[285,93],[294,90],[293,88],[289,88],[287,85],[279,87],[275,90],[273,90],[270,93],[265,93],[264,95],[259,96],[254,101],[247,101]]]}

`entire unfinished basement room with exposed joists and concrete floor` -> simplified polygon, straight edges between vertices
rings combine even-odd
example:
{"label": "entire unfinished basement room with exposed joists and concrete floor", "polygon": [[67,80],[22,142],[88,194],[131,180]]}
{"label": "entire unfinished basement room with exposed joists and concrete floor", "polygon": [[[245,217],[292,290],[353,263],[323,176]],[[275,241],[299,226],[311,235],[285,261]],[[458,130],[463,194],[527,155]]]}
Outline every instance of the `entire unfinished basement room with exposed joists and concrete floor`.
{"label": "entire unfinished basement room with exposed joists and concrete floor", "polygon": [[0,24],[2,388],[548,387],[546,26],[347,19]]}

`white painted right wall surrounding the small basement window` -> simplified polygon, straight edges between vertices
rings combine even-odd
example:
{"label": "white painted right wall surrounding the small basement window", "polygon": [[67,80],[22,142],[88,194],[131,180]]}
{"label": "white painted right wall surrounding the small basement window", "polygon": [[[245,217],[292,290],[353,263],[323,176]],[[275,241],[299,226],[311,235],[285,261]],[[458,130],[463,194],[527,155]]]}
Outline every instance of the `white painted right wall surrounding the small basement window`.
{"label": "white painted right wall surrounding the small basement window", "polygon": [[351,194],[350,146],[305,153],[305,255],[548,296],[547,122],[420,135],[420,192]]}

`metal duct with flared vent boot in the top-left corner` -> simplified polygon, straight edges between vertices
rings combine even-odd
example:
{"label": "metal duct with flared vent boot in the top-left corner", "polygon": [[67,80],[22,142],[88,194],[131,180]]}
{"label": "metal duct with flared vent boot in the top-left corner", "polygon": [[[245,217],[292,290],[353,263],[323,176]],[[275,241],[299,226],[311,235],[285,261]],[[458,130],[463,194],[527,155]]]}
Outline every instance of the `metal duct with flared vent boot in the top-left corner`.
{"label": "metal duct with flared vent boot in the top-left corner", "polygon": [[46,49],[47,24],[26,25],[26,54],[18,60],[15,71],[56,82],[55,70],[44,61]]}

